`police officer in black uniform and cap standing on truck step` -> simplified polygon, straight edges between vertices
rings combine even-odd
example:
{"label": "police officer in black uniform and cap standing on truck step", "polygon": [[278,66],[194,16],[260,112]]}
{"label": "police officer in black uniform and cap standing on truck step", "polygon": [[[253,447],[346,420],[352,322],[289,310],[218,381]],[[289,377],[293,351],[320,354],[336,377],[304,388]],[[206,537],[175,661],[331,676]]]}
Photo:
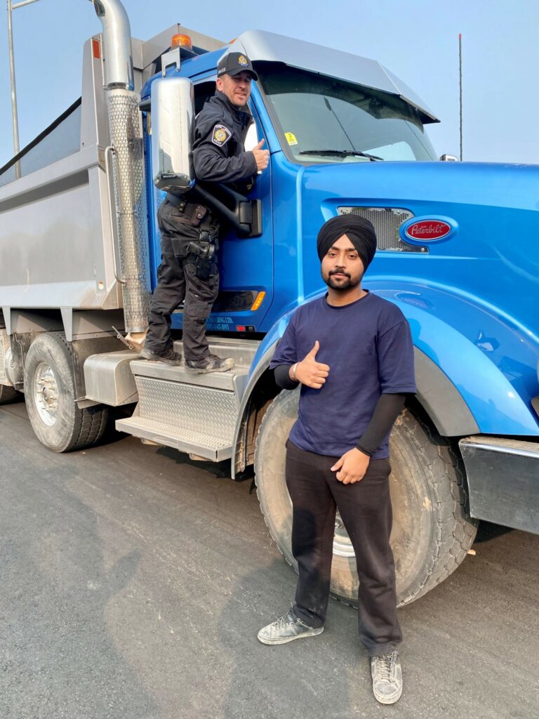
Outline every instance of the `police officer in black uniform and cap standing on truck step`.
{"label": "police officer in black uniform and cap standing on truck step", "polygon": [[[195,119],[193,165],[195,176],[205,182],[252,183],[267,168],[270,153],[264,140],[249,152],[245,137],[253,122],[247,107],[251,83],[257,80],[247,55],[227,52],[217,65],[216,93]],[[172,311],[184,302],[183,347],[188,372],[224,372],[234,361],[211,354],[206,339],[206,319],[216,300],[218,221],[210,209],[192,201],[189,193],[167,193],[157,211],[161,231],[162,262],[149,310],[149,329],[141,357],[179,365],[170,337]]]}

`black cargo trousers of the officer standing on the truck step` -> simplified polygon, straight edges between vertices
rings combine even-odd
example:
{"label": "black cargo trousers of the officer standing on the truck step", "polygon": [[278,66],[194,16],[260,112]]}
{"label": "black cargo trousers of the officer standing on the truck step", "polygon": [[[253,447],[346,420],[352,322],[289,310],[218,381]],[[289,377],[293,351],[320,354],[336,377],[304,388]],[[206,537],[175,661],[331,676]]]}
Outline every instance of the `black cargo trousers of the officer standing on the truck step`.
{"label": "black cargo trousers of the officer standing on the truck step", "polygon": [[217,257],[210,277],[207,280],[198,278],[189,245],[199,239],[200,231],[180,222],[180,217],[177,209],[166,200],[157,212],[162,255],[157,270],[157,286],[149,307],[149,329],[144,347],[157,354],[167,349],[171,344],[172,312],[183,302],[185,359],[201,362],[210,353],[206,339],[206,319],[219,291]]}

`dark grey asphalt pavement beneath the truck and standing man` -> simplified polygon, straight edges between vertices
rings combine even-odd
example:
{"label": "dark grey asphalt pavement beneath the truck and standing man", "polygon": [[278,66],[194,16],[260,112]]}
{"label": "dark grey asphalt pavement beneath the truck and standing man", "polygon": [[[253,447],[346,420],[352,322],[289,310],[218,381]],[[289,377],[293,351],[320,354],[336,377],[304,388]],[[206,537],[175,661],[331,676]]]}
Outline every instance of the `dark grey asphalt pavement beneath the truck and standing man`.
{"label": "dark grey asphalt pavement beneath the truck and standing man", "polygon": [[295,573],[250,482],[114,434],[55,454],[0,408],[0,719],[538,719],[539,536],[484,524],[400,610],[405,689],[372,697],[356,612],[269,647]]}

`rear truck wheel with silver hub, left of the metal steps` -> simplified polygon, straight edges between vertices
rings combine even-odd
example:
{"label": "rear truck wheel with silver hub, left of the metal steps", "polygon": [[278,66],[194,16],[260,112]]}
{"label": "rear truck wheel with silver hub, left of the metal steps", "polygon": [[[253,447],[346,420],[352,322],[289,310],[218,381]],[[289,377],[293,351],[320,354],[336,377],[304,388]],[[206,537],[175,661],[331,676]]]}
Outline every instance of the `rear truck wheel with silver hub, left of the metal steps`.
{"label": "rear truck wheel with silver hub, left of the metal steps", "polygon": [[73,360],[62,334],[40,334],[24,362],[24,399],[37,439],[55,452],[83,449],[101,439],[109,408],[80,409]]}

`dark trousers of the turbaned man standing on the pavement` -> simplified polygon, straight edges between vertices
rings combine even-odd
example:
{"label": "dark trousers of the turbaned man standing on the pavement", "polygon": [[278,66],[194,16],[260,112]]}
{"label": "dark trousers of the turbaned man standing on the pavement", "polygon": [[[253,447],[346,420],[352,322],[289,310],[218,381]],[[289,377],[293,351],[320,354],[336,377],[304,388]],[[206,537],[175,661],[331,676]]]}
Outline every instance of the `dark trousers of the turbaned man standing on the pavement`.
{"label": "dark trousers of the turbaned man standing on the pavement", "polygon": [[294,611],[308,626],[326,620],[338,508],[356,553],[359,638],[369,656],[387,654],[402,641],[390,547],[390,461],[372,459],[360,482],[344,485],[330,471],[336,459],[287,443],[292,553],[299,570]]}

